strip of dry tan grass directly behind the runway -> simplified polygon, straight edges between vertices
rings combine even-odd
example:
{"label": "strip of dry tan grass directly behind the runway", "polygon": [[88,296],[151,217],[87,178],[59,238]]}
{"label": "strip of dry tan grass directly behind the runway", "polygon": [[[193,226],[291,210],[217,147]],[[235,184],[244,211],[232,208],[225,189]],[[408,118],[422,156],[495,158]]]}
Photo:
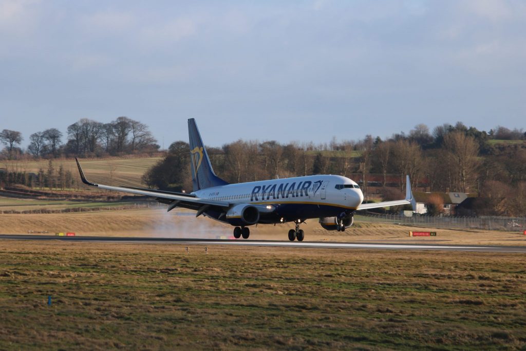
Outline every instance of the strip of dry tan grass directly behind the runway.
{"label": "strip of dry tan grass directly behind the runway", "polygon": [[[232,227],[209,218],[195,218],[195,212],[174,209],[166,213],[166,206],[149,209],[106,210],[103,212],[65,214],[3,214],[0,215],[0,234],[24,234],[27,230],[40,232],[76,232],[77,235],[145,236],[145,237],[229,237]],[[250,227],[251,239],[287,240],[287,232],[293,225],[258,225]],[[415,228],[395,224],[360,222],[345,232],[328,232],[316,219],[307,220],[301,228],[306,240],[329,240],[341,242],[399,242],[440,243],[461,245],[526,245],[526,236],[519,233],[495,230],[433,229],[436,237],[412,237],[409,230]]]}

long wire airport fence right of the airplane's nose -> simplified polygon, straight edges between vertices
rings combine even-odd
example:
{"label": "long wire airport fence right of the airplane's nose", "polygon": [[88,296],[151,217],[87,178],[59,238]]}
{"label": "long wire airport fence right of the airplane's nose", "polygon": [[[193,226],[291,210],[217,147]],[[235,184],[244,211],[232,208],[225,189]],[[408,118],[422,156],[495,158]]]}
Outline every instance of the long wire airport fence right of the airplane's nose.
{"label": "long wire airport fence right of the airplane's nose", "polygon": [[411,216],[403,214],[389,215],[376,213],[360,213],[369,222],[397,223],[416,227],[453,228],[453,229],[484,229],[506,230],[508,232],[523,232],[526,230],[526,217],[455,217],[455,216]]}

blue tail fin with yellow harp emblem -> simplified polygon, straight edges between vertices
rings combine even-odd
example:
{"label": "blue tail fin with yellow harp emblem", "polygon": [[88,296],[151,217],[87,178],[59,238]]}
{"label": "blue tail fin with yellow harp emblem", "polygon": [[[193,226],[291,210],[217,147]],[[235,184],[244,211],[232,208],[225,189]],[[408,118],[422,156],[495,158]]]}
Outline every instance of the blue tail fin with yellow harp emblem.
{"label": "blue tail fin with yellow harp emblem", "polygon": [[188,119],[188,137],[190,139],[190,159],[192,164],[192,183],[194,191],[212,186],[227,185],[225,180],[214,173],[205,145],[201,140],[194,118]]}

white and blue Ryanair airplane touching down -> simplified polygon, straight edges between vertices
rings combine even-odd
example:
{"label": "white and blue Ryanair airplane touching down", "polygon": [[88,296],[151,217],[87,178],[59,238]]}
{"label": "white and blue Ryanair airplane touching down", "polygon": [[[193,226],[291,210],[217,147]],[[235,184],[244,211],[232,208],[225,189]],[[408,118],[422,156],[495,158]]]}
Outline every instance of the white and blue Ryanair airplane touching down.
{"label": "white and blue Ryanair airplane touching down", "polygon": [[75,157],[80,178],[89,186],[155,197],[159,203],[168,205],[168,212],[176,207],[196,210],[196,217],[203,215],[234,226],[236,239],[247,239],[251,225],[293,222],[296,228],[289,230],[288,238],[301,242],[305,233],[300,224],[307,219],[319,218],[323,228],[343,231],[352,225],[356,210],[411,204],[416,211],[409,176],[406,176],[405,199],[368,204],[362,203],[358,184],[339,175],[229,184],[214,173],[194,118],[188,119],[188,135],[193,183],[193,192],[189,194],[91,183]]}

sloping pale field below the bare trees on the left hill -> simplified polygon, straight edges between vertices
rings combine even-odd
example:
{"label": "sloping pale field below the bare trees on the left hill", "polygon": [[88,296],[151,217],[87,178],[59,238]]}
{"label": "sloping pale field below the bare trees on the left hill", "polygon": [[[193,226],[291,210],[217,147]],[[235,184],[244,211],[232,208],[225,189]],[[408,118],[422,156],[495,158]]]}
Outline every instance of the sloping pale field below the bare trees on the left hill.
{"label": "sloping pale field below the bare trees on the left hill", "polygon": [[[86,177],[93,180],[95,183],[102,183],[107,185],[123,185],[123,186],[144,186],[141,177],[148,171],[148,169],[160,161],[162,157],[137,157],[137,158],[122,158],[122,157],[107,157],[102,159],[80,159],[80,164],[84,169]],[[64,169],[73,172],[73,175],[78,183],[77,164],[75,159],[55,159],[53,160],[53,167],[58,171],[60,165]],[[38,173],[40,168],[47,172],[48,161],[4,161],[0,164],[0,168],[8,169],[9,172],[34,172]],[[84,184],[80,185],[84,188]],[[87,186],[86,186],[87,188]]]}

